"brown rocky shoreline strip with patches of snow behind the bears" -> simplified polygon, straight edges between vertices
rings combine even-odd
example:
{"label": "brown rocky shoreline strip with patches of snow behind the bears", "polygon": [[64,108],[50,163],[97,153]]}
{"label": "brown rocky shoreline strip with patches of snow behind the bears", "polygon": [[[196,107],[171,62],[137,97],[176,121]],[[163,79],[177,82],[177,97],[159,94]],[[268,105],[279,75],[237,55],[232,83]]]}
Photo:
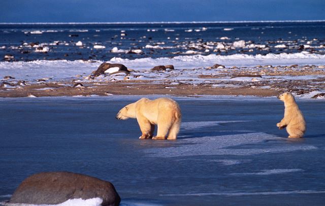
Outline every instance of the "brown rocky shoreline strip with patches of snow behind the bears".
{"label": "brown rocky shoreline strip with patches of snow behind the bears", "polygon": [[71,79],[44,77],[34,81],[4,76],[0,97],[56,97],[107,95],[249,95],[276,96],[285,91],[323,98],[324,65],[210,67],[174,69],[158,65],[137,71],[122,64],[103,63],[90,75]]}

